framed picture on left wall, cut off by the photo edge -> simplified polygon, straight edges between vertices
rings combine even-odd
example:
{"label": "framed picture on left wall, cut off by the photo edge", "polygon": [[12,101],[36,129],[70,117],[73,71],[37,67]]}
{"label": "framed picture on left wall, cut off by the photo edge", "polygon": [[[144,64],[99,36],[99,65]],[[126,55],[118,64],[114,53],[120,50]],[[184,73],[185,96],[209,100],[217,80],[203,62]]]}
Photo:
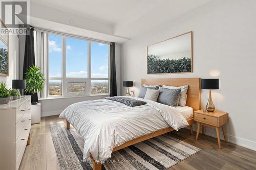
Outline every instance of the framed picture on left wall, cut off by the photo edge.
{"label": "framed picture on left wall, cut off by the photo edge", "polygon": [[[0,26],[1,29],[3,27],[7,29],[5,23],[2,21],[2,19],[0,19],[0,23],[1,23],[1,26]],[[7,34],[7,37],[4,37],[3,35],[0,34],[0,48],[2,48],[2,49],[0,49],[0,55],[2,55],[2,52],[4,53],[4,51],[5,51],[4,48],[1,47],[2,45],[6,45],[6,47],[7,47],[7,50],[6,50],[6,52],[7,52],[7,55],[6,55],[7,60],[6,60],[6,63],[4,63],[3,61],[0,61],[2,64],[3,63],[5,64],[5,65],[0,65],[0,67],[1,67],[0,68],[0,76],[6,76],[7,77],[7,76],[9,76],[9,34]],[[2,50],[2,52],[1,52],[1,50]],[[1,60],[1,58],[0,58],[0,60]],[[5,69],[3,68],[4,66],[6,66]],[[4,69],[4,70],[2,70],[2,69]]]}

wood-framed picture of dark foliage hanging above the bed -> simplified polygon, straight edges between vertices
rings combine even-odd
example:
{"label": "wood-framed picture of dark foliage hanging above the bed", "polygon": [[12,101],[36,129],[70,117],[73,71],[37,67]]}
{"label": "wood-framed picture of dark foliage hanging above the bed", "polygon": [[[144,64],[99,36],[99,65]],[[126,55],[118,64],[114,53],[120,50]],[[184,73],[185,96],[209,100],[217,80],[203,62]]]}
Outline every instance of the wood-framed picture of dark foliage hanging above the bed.
{"label": "wood-framed picture of dark foliage hanging above the bed", "polygon": [[[157,64],[158,62],[159,64]],[[177,65],[179,62],[185,62],[186,65],[176,68],[175,64]],[[147,75],[192,73],[193,32],[189,31],[148,45],[146,47],[146,63]],[[166,67],[164,65],[170,66]]]}

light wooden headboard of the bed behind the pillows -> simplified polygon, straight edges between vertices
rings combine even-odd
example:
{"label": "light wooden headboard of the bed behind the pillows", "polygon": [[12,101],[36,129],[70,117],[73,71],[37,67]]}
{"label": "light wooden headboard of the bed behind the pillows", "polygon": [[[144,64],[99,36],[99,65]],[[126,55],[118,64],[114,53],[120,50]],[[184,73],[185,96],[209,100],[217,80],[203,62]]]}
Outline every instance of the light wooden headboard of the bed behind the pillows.
{"label": "light wooden headboard of the bed behind the pillows", "polygon": [[175,79],[141,79],[141,86],[167,85],[184,86],[188,85],[186,106],[194,111],[201,109],[201,79],[200,78],[175,78]]}

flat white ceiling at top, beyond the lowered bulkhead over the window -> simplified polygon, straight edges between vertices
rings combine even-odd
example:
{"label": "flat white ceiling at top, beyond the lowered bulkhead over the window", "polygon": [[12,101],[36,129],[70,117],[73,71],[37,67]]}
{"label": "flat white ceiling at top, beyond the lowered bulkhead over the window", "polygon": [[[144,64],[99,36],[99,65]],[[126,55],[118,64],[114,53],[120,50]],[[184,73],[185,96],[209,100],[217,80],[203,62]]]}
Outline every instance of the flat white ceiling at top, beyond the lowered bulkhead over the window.
{"label": "flat white ceiling at top, beyond the lowered bulkhead over the window", "polygon": [[90,18],[111,27],[112,33],[108,34],[127,39],[209,1],[211,0],[31,0],[49,8]]}

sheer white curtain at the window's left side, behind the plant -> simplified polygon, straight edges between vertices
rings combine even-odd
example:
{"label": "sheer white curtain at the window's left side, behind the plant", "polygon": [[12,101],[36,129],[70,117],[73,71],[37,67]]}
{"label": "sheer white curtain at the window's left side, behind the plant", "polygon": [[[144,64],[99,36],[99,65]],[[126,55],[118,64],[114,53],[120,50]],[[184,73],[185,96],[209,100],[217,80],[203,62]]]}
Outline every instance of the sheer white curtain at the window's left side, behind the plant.
{"label": "sheer white curtain at the window's left side, behind the plant", "polygon": [[47,98],[48,96],[48,35],[47,33],[40,32],[35,30],[34,31],[34,40],[35,40],[35,64],[36,66],[40,67],[40,71],[45,76],[45,87],[42,92],[39,93],[39,98]]}

